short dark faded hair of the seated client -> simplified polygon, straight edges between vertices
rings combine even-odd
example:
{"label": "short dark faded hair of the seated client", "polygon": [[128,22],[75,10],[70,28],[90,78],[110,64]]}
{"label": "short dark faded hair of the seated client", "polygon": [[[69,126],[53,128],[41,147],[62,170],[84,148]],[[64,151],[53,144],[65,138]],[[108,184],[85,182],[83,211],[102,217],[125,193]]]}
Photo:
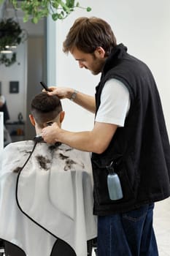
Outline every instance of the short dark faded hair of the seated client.
{"label": "short dark faded hair of the seated client", "polygon": [[31,101],[31,114],[39,127],[42,127],[47,121],[55,119],[62,110],[61,100],[58,96],[48,95],[46,92],[37,94]]}

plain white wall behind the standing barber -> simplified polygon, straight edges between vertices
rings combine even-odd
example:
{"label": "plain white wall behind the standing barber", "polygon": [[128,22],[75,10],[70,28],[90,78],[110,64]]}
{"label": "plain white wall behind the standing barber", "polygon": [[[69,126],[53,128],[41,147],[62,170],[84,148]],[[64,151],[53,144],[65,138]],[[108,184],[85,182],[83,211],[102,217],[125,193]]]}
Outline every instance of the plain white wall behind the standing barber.
{"label": "plain white wall behind the standing barber", "polygon": [[[107,20],[117,37],[117,42],[128,46],[128,52],[142,59],[152,70],[161,94],[163,110],[170,135],[169,95],[170,95],[170,1],[169,0],[85,0],[84,7],[92,7],[91,12],[77,10],[66,20],[56,25],[56,85],[73,87],[93,94],[99,75],[93,76],[88,70],[80,69],[71,55],[62,52],[62,43],[74,20],[80,16],[96,16]],[[55,53],[54,49],[53,53]],[[50,68],[50,67],[49,67]],[[93,127],[93,115],[63,100],[66,110],[64,129],[84,130]]]}

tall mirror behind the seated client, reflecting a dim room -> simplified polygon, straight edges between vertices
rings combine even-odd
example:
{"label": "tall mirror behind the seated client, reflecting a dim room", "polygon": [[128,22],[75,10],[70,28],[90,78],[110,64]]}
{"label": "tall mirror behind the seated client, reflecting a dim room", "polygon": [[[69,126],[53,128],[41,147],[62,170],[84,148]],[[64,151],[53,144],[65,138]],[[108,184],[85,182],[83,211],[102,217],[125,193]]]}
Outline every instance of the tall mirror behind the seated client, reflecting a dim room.
{"label": "tall mirror behind the seated client, reflecting a dim room", "polygon": [[[12,7],[5,10],[5,18],[14,16]],[[2,10],[0,12],[2,18]],[[6,127],[12,141],[34,138],[34,127],[28,115],[30,102],[35,94],[42,91],[39,81],[46,82],[46,19],[34,24],[29,20],[23,23],[23,13],[18,10],[20,28],[28,34],[27,39],[15,49],[17,61],[10,67],[0,65],[1,94],[4,95],[9,111]]]}

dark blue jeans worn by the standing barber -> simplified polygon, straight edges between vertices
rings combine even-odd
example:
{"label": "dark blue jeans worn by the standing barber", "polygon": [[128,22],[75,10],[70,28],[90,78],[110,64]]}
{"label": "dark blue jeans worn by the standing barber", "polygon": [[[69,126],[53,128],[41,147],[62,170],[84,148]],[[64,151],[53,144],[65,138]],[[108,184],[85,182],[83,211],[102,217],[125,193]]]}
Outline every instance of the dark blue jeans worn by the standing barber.
{"label": "dark blue jeans worn by the standing barber", "polygon": [[98,256],[158,256],[152,227],[154,204],[98,217]]}

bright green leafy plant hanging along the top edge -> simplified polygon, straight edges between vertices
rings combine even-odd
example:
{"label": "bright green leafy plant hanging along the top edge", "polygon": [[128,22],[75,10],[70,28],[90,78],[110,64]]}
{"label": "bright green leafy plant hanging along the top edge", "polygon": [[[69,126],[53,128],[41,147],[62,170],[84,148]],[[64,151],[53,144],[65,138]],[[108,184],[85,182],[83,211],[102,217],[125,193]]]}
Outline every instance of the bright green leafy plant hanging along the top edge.
{"label": "bright green leafy plant hanging along the top edge", "polygon": [[[4,0],[0,0],[0,4]],[[53,20],[63,20],[76,8],[85,9],[90,12],[90,7],[80,7],[80,3],[74,0],[9,0],[15,10],[21,9],[24,12],[23,22],[31,18],[32,23],[38,23],[42,18],[51,15]]]}

